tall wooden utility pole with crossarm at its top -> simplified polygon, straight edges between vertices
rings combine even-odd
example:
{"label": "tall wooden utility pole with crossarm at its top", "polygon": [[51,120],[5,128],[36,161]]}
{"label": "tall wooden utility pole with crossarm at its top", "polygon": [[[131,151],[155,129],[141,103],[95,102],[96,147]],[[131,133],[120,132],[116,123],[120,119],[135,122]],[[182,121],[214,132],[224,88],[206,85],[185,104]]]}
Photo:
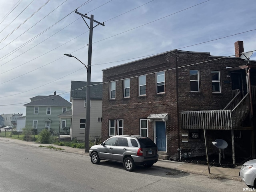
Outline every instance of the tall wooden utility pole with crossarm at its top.
{"label": "tall wooden utility pole with crossarm at its top", "polygon": [[[82,16],[83,20],[84,17],[87,19],[90,19],[90,26],[88,26],[88,24],[86,23],[86,21],[84,20],[84,22],[86,23],[86,25],[88,26],[88,28],[90,29],[90,33],[89,33],[89,48],[88,48],[88,65],[87,65],[87,84],[86,84],[86,122],[85,122],[85,136],[84,136],[84,142],[85,142],[85,147],[84,150],[85,152],[89,152],[89,140],[90,140],[90,103],[91,103],[91,66],[92,66],[92,31],[93,28],[98,26],[98,25],[104,25],[103,23],[100,23],[96,20],[93,19],[93,15],[91,15],[91,18],[86,16],[86,14],[81,14],[79,12],[77,12],[77,10],[75,11],[76,14],[79,14]],[[96,26],[93,26],[94,22],[97,23]]]}

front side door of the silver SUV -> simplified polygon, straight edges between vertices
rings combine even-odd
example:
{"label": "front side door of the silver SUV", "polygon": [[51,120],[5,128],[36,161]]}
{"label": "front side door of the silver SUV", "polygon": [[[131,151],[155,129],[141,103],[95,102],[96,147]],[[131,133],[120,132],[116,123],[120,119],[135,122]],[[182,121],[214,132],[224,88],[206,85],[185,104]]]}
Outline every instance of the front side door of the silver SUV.
{"label": "front side door of the silver SUV", "polygon": [[104,160],[112,160],[112,153],[114,145],[116,144],[116,137],[111,137],[104,142],[104,145],[101,146],[99,156]]}

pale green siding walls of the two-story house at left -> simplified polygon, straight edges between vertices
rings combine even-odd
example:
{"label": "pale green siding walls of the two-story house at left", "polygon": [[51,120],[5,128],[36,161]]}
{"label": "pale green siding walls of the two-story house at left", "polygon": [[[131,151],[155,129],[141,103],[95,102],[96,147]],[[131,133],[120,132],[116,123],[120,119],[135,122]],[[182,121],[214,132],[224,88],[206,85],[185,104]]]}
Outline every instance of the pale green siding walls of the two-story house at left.
{"label": "pale green siding walls of the two-story house at left", "polygon": [[[62,106],[55,107],[51,106],[51,114],[46,114],[47,106],[38,106],[38,114],[34,114],[34,106],[26,107],[26,128],[33,127],[33,120],[38,120],[37,130],[42,131],[45,128],[45,120],[48,118],[52,120],[50,128],[55,133],[59,132],[60,118],[59,114],[62,114]],[[67,110],[71,110],[71,107],[67,107]]]}

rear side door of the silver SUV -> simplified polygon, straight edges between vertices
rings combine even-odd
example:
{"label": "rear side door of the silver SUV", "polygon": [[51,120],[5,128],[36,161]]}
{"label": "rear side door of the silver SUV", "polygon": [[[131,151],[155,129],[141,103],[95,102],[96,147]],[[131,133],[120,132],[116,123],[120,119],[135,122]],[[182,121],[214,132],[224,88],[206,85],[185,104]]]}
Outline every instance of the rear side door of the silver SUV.
{"label": "rear side door of the silver SUV", "polygon": [[113,148],[113,161],[122,162],[123,153],[128,150],[127,138],[118,138],[116,145]]}

